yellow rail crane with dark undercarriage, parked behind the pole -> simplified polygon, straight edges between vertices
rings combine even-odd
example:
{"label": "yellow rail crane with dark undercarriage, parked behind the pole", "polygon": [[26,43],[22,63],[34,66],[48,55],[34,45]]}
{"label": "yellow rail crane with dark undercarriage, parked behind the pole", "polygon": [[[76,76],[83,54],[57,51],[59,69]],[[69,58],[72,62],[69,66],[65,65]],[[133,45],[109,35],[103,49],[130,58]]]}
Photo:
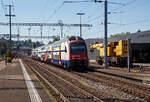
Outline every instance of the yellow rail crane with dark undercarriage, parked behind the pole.
{"label": "yellow rail crane with dark undercarriage, parked behind the pole", "polygon": [[[96,56],[99,64],[104,63],[104,44],[90,44],[90,51],[99,50],[100,55]],[[111,66],[127,66],[128,40],[112,41],[107,45],[108,63]]]}

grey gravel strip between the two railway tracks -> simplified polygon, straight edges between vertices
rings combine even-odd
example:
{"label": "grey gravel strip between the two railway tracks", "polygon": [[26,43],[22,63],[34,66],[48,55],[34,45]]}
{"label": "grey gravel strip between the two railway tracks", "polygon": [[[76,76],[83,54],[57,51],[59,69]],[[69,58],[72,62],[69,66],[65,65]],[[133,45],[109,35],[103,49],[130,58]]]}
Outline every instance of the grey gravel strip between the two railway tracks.
{"label": "grey gravel strip between the two railway tracks", "polygon": [[104,92],[104,93],[114,96],[114,97],[112,97],[112,102],[148,102],[144,99],[140,99],[140,98],[130,95],[128,93],[122,92],[116,88],[112,88],[109,86],[102,85],[101,83],[98,83],[98,82],[93,82],[91,80],[87,80],[87,79],[80,77],[78,75],[75,75],[71,72],[67,72],[62,69],[58,70],[57,68],[56,69],[54,68],[53,70],[59,71],[59,73],[68,75],[69,77],[74,78],[74,79],[80,81],[82,84],[88,85],[89,87],[94,87],[95,89],[98,89],[101,92]]}

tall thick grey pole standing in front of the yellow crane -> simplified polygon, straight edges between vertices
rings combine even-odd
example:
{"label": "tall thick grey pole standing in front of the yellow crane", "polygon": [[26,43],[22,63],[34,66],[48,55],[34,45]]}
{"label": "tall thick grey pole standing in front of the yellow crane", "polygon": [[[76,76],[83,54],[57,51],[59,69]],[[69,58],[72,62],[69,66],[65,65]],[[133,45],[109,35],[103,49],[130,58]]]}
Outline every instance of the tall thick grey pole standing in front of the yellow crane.
{"label": "tall thick grey pole standing in front of the yellow crane", "polygon": [[107,0],[102,1],[102,0],[94,0],[95,2],[104,2],[104,51],[105,51],[105,56],[104,56],[104,67],[108,68],[108,57],[107,57],[107,24],[108,24],[108,20],[107,20]]}

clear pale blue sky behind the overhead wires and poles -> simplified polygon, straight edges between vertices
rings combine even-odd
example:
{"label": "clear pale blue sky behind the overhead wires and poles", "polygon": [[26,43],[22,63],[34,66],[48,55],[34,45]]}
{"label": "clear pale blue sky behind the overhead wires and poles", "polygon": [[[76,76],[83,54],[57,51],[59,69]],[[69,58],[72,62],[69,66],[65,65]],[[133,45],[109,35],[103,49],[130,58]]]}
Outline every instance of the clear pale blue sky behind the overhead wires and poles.
{"label": "clear pale blue sky behind the overhead wires and poles", "polygon": [[[82,23],[92,24],[92,28],[83,28],[83,38],[101,38],[104,37],[104,4],[103,3],[72,3],[63,4],[65,0],[1,0],[4,5],[13,4],[16,17],[13,22],[43,22],[57,23],[62,20],[63,23],[79,23],[78,12],[84,12]],[[69,0],[68,0],[69,1]],[[73,0],[77,1],[77,0]],[[92,0],[89,0],[92,1]],[[136,32],[150,30],[150,1],[149,0],[108,0],[126,4],[108,4],[108,36],[120,32]],[[4,6],[4,9],[6,7]],[[114,10],[119,8],[117,10]],[[8,22],[5,17],[4,9],[0,4],[0,22]],[[8,8],[5,9],[8,12]],[[28,35],[29,27],[20,27],[21,35]],[[17,33],[17,27],[13,27],[13,34]],[[8,27],[0,26],[0,34],[9,33]],[[79,27],[64,27],[65,35],[79,35]],[[31,35],[40,35],[40,27],[31,27]],[[59,27],[44,27],[43,35],[60,35]],[[35,39],[34,39],[35,40]],[[41,40],[43,41],[43,40]],[[44,42],[48,42],[45,39]]]}

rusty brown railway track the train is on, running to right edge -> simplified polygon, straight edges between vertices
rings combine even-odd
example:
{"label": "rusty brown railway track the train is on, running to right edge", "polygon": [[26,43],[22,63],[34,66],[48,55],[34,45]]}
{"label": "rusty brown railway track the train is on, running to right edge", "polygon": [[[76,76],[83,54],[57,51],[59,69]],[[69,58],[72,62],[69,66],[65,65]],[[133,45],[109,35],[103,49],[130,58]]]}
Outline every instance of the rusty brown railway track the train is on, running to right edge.
{"label": "rusty brown railway track the train is on, running to right edge", "polygon": [[121,91],[127,92],[139,98],[150,100],[150,87],[148,86],[140,85],[138,83],[133,83],[127,80],[121,80],[119,78],[113,78],[111,76],[106,76],[99,73],[73,73],[86,79],[93,80],[95,82],[100,82],[104,85],[120,89]]}

